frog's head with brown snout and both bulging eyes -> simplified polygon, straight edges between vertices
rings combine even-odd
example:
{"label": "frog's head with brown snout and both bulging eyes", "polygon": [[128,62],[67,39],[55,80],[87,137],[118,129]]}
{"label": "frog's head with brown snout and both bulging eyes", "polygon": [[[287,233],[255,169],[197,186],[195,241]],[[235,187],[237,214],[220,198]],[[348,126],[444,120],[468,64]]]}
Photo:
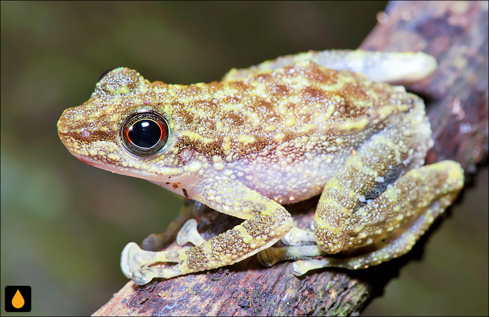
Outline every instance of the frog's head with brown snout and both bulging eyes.
{"label": "frog's head with brown snout and both bulging eyes", "polygon": [[100,78],[87,102],[63,112],[59,137],[89,165],[159,184],[182,181],[182,161],[191,163],[192,154],[182,152],[175,137],[167,87],[135,70],[113,69]]}

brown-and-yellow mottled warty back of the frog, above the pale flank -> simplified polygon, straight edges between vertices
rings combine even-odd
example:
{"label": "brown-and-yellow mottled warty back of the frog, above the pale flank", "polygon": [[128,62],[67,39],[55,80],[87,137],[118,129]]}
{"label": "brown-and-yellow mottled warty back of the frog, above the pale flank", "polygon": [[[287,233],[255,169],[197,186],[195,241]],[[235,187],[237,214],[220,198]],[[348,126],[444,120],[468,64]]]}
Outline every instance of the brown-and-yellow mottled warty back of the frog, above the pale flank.
{"label": "brown-and-yellow mottled warty back of the frog, above the pale flank", "polygon": [[202,154],[227,162],[267,156],[274,148],[296,157],[311,152],[311,146],[328,152],[349,136],[368,138],[400,114],[423,107],[419,97],[401,86],[309,61],[239,80],[172,85],[169,90],[169,95],[188,96],[163,102],[179,123],[180,148],[193,143]]}

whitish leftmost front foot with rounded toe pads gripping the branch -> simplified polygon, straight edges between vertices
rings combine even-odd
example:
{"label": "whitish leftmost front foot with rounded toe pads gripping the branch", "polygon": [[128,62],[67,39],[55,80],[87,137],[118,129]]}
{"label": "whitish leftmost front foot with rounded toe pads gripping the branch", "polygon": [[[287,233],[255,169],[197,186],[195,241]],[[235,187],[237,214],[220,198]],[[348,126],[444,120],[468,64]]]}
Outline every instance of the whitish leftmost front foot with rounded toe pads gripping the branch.
{"label": "whitish leftmost front foot with rounded toe pads gripping the branch", "polygon": [[178,251],[146,251],[142,250],[137,243],[130,242],[126,245],[121,253],[121,270],[126,277],[132,278],[133,273],[140,270],[144,266],[148,266],[156,262],[179,262],[180,259],[181,256]]}

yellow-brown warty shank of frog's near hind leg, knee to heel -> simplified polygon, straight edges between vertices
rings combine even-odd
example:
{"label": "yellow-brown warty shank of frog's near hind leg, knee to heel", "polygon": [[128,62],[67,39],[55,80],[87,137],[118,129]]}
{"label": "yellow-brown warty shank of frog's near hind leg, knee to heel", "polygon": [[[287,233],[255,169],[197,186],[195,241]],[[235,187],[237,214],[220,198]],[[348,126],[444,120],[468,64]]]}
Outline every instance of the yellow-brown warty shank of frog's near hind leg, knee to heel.
{"label": "yellow-brown warty shank of frog's near hind leg, knee to heel", "polygon": [[[372,200],[363,192],[350,204],[338,205],[335,190],[326,190],[314,218],[316,243],[330,254],[369,246],[399,235],[424,214],[426,227],[413,232],[419,236],[451,203],[463,182],[460,165],[444,161],[409,171]],[[396,253],[403,254],[411,246]]]}

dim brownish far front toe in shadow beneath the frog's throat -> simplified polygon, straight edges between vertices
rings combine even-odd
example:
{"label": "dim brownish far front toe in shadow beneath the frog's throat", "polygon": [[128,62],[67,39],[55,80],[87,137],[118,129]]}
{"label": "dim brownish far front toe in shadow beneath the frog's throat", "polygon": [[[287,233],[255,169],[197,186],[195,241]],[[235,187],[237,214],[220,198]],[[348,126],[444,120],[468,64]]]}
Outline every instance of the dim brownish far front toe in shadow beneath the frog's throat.
{"label": "dim brownish far front toe in shadow beneath the frog's throat", "polygon": [[165,244],[171,241],[177,235],[178,230],[184,225],[192,215],[197,215],[205,209],[205,205],[191,199],[185,199],[178,217],[172,221],[165,232],[151,233],[143,242],[141,248],[147,251],[159,251]]}

